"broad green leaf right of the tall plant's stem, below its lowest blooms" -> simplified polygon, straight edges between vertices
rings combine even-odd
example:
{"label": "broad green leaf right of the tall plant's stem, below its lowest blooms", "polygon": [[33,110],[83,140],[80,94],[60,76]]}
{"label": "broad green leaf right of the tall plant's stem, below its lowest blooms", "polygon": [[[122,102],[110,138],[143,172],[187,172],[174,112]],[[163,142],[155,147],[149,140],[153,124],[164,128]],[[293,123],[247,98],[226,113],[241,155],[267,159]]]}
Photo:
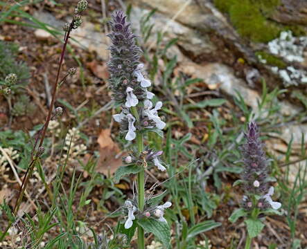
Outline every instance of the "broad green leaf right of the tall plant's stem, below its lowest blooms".
{"label": "broad green leaf right of the tall plant's stem, below its lowest blooms", "polygon": [[170,228],[168,223],[157,221],[156,219],[141,219],[137,223],[141,225],[146,232],[152,232],[166,248],[170,246]]}

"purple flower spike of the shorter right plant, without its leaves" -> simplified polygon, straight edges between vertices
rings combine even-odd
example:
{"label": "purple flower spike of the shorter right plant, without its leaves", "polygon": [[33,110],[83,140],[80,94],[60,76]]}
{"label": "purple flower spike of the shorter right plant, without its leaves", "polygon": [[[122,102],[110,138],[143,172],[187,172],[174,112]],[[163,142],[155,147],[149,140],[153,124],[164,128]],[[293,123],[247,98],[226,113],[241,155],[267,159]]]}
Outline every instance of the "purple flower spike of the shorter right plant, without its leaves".
{"label": "purple flower spike of the shorter right plant, without its leaves", "polygon": [[[274,202],[271,196],[274,194],[274,187],[269,188],[268,184],[268,160],[265,157],[263,143],[259,138],[256,123],[250,122],[248,131],[245,134],[247,142],[241,147],[243,163],[245,165],[242,179],[245,187],[242,205],[245,210],[252,210],[253,205],[265,210],[270,208],[279,209],[280,203]],[[261,196],[257,203],[253,203],[251,195]]]}

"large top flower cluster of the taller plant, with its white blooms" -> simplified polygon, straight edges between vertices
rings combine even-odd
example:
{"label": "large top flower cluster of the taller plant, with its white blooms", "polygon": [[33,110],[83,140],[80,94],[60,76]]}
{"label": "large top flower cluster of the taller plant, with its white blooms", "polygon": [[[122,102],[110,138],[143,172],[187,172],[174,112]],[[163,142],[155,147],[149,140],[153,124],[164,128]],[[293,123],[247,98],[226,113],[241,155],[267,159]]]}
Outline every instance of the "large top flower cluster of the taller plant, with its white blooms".
{"label": "large top flower cluster of the taller plant, with its white blooms", "polygon": [[[121,133],[125,134],[125,139],[131,141],[136,138],[137,130],[164,129],[166,123],[158,116],[162,102],[157,102],[153,107],[150,101],[154,94],[147,90],[151,82],[143,75],[144,65],[139,62],[141,48],[135,45],[135,35],[121,10],[112,15],[110,25],[112,33],[108,36],[112,45],[109,47],[109,86],[116,102],[123,104],[121,113],[113,117],[116,122],[121,123]],[[130,109],[137,107],[140,102],[143,105],[139,109],[140,120],[137,122]]]}

